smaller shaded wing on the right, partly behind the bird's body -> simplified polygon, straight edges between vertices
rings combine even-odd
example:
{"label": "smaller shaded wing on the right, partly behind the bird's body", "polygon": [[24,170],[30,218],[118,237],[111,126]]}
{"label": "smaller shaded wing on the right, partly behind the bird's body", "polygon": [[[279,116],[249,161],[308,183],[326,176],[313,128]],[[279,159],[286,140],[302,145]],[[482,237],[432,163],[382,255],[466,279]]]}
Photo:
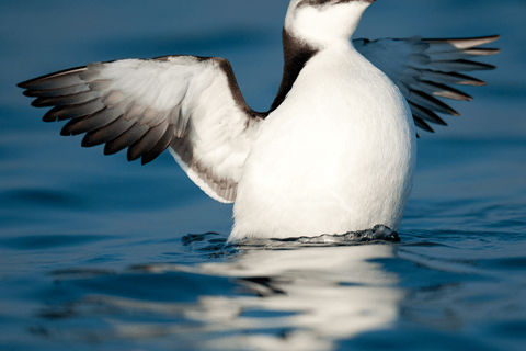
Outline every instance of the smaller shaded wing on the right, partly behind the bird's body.
{"label": "smaller shaded wing on the right, partly behind the bird's body", "polygon": [[494,66],[472,61],[477,56],[498,54],[494,48],[479,46],[500,36],[456,39],[356,39],[355,48],[373,65],[384,71],[409,102],[414,123],[433,132],[427,123],[447,125],[436,113],[458,116],[458,112],[437,98],[472,100],[468,94],[449,87],[484,86],[485,82],[460,72],[494,69]]}

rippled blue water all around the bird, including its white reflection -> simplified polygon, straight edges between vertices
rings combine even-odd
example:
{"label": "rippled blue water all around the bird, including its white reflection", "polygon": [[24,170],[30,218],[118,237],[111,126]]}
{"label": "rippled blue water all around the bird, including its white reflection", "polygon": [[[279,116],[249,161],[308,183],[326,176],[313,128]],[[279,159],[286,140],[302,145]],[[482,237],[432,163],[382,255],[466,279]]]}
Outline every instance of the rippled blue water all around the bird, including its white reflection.
{"label": "rippled blue water all around the bird, including its white reflection", "polygon": [[214,55],[265,110],[286,5],[0,4],[0,349],[526,348],[524,2],[377,1],[364,15],[357,36],[503,35],[484,60],[499,69],[477,75],[489,86],[422,134],[399,242],[227,245],[231,206],[169,155],[141,167],[82,149],[15,88],[89,61]]}

